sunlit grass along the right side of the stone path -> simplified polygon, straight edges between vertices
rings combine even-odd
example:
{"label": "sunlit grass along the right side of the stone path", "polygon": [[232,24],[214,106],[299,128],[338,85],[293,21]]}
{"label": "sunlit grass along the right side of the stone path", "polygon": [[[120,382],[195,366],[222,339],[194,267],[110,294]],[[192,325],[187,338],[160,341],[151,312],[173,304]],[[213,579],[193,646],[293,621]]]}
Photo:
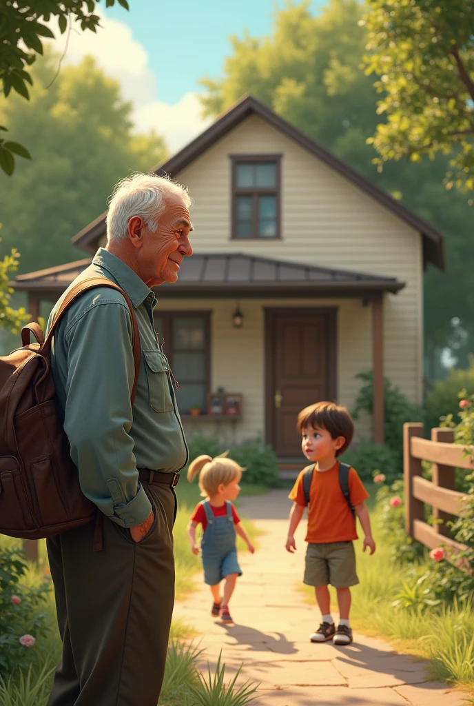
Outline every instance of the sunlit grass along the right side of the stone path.
{"label": "sunlit grass along the right side of the stone path", "polygon": [[[412,582],[413,565],[397,566],[391,561],[389,546],[377,537],[377,510],[371,520],[375,554],[363,554],[362,541],[356,542],[360,584],[352,590],[353,628],[395,641],[399,650],[429,660],[435,678],[474,695],[474,601],[440,610],[394,608],[392,602],[403,582]],[[314,604],[314,589],[302,584],[298,588],[305,602]],[[336,592],[331,591],[337,612]]]}

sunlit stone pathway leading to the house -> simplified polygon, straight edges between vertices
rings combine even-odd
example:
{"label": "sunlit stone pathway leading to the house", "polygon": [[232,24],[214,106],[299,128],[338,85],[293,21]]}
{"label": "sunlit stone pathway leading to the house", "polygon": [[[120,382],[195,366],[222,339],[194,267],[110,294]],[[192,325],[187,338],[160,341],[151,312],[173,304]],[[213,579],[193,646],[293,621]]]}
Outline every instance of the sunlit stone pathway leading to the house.
{"label": "sunlit stone pathway leading to the house", "polygon": [[240,556],[243,576],[231,602],[234,626],[213,621],[209,588],[200,575],[197,591],[176,604],[175,615],[202,635],[202,671],[207,673],[207,659],[215,665],[220,650],[226,675],[233,676],[243,663],[238,683],[260,681],[255,706],[462,706],[462,694],[430,681],[425,663],[399,654],[384,640],[356,634],[349,647],[308,640],[319,613],[295,588],[303,575],[303,528],[298,552],[284,551],[286,495],[275,490],[241,500],[239,512],[265,536],[253,556]]}

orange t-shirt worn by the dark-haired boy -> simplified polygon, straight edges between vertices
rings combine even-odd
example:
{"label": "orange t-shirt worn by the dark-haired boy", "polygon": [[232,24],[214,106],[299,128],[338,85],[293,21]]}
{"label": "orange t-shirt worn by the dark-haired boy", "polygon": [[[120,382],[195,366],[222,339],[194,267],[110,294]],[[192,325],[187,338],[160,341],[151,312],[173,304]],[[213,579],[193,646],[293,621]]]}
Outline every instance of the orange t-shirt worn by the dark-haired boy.
{"label": "orange t-shirt worn by the dark-haired boy", "polygon": [[[356,470],[349,470],[349,495],[351,503],[358,505],[369,497]],[[300,472],[288,498],[298,505],[306,505],[303,491],[303,471]],[[305,542],[323,544],[326,542],[350,542],[358,539],[356,520],[346,502],[339,485],[339,461],[328,471],[315,469],[310,486],[308,507],[308,532]]]}

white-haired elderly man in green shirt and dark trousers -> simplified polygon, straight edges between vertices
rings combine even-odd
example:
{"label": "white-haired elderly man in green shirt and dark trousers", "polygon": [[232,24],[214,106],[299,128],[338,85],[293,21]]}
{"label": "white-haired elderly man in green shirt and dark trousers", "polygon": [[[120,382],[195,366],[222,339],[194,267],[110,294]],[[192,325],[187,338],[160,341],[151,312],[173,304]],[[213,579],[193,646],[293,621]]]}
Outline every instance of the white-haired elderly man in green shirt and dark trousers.
{"label": "white-haired elderly man in green shirt and dark trousers", "polygon": [[71,285],[104,277],[131,299],[142,349],[133,407],[133,329],[121,292],[85,292],[54,335],[59,410],[83,492],[102,513],[103,549],[92,551],[93,522],[48,540],[63,640],[49,706],[157,706],[174,604],[172,479],[188,450],[152,287],[176,282],[193,253],[189,206],[167,179],[123,179],[107,247]]}

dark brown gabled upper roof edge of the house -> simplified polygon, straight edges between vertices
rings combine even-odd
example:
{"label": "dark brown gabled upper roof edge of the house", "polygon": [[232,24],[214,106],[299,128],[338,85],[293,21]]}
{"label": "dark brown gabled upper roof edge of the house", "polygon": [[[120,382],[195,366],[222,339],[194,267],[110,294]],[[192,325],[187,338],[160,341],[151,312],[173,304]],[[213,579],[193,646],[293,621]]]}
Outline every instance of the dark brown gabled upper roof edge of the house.
{"label": "dark brown gabled upper roof edge of the house", "polygon": [[[184,167],[187,167],[190,162],[193,162],[197,157],[200,157],[209,147],[214,145],[217,140],[224,137],[229,131],[235,128],[243,120],[251,114],[260,116],[281,131],[291,140],[294,140],[298,145],[311,152],[322,162],[325,162],[332,167],[336,172],[339,172],[343,177],[346,177],[353,184],[356,184],[359,189],[367,193],[376,201],[381,203],[385,208],[391,210],[396,216],[404,220],[408,225],[413,227],[423,236],[423,261],[426,265],[428,262],[437,265],[441,270],[444,270],[444,248],[443,234],[436,228],[432,227],[423,218],[418,217],[406,208],[402,203],[392,198],[389,193],[380,189],[379,186],[372,184],[372,181],[363,177],[362,174],[356,172],[355,169],[349,167],[346,162],[343,162],[322,147],[319,143],[312,140],[298,128],[288,123],[279,115],[274,113],[269,107],[257,100],[253,96],[241,98],[236,104],[221,114],[219,118],[207,130],[200,134],[195,140],[190,142],[186,147],[176,153],[169,160],[158,164],[154,167],[154,174],[169,174],[171,178],[176,178],[178,172],[181,172]],[[99,239],[105,234],[105,218],[107,211],[102,213],[96,220],[92,221],[87,227],[73,237],[73,243],[80,248],[89,251],[95,251]]]}

